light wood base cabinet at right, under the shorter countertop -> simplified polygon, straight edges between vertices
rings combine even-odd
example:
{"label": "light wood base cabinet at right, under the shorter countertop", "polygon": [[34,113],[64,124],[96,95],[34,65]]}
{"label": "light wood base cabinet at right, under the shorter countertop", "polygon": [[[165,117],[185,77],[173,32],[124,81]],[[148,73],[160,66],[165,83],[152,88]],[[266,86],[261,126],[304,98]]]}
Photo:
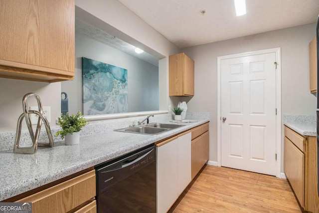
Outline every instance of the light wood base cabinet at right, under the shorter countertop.
{"label": "light wood base cabinet at right, under the shorter countertop", "polygon": [[319,213],[317,137],[299,135],[285,126],[284,171],[305,211]]}

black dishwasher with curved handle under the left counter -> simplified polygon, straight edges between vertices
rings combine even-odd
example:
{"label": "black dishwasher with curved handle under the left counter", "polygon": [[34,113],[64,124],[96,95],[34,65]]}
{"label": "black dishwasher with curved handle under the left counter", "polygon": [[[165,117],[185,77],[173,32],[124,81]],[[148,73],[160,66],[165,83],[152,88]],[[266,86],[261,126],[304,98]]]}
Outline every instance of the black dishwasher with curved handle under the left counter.
{"label": "black dishwasher with curved handle under the left counter", "polygon": [[98,213],[156,213],[156,149],[153,144],[95,169]]}

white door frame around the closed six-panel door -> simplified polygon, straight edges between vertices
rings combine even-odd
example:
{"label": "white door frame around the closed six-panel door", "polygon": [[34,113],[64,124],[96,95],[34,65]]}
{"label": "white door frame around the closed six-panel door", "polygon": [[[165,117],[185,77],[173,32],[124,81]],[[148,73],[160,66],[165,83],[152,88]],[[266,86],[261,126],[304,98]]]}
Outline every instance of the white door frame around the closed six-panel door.
{"label": "white door frame around the closed six-panel door", "polygon": [[[244,57],[251,55],[259,55],[266,53],[276,53],[276,177],[283,178],[281,175],[281,48],[264,49],[258,51],[244,52],[238,54],[231,54],[217,57],[217,166],[221,166],[221,60],[236,57]],[[275,66],[275,64],[274,64]]]}

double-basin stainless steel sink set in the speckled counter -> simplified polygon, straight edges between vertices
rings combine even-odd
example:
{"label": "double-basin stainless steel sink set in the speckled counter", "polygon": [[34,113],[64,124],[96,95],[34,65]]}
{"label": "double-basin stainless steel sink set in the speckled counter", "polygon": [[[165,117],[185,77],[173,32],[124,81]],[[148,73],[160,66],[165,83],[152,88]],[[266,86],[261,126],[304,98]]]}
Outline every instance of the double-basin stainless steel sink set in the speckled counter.
{"label": "double-basin stainless steel sink set in the speckled counter", "polygon": [[146,125],[141,125],[136,127],[116,129],[114,131],[137,133],[137,134],[144,134],[144,135],[158,135],[160,133],[163,133],[181,126],[185,126],[185,125],[151,123],[151,124],[146,124]]}

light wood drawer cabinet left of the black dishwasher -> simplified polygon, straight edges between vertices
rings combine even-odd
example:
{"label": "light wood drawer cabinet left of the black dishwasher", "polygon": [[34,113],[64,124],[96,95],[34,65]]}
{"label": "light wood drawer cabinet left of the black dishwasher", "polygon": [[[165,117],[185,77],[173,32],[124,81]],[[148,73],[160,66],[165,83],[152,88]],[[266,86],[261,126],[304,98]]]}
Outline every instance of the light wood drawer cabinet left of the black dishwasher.
{"label": "light wood drawer cabinet left of the black dishwasher", "polygon": [[96,213],[96,202],[92,200],[81,209],[77,207],[96,195],[95,170],[72,178],[16,202],[31,202],[32,213]]}

